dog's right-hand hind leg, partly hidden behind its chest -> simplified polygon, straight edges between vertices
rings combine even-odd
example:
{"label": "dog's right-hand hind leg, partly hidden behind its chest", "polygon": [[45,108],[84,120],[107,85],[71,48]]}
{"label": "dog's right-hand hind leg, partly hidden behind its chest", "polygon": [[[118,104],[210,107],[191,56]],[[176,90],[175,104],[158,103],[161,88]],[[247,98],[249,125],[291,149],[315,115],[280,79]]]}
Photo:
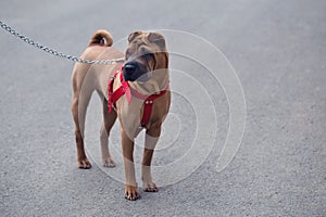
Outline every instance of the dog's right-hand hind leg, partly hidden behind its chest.
{"label": "dog's right-hand hind leg, partly hidden behind its chest", "polygon": [[109,136],[111,128],[116,119],[116,112],[114,110],[109,113],[108,100],[103,99],[103,123],[101,127],[101,150],[102,150],[102,163],[104,167],[114,167],[115,163],[112,159],[109,151]]}

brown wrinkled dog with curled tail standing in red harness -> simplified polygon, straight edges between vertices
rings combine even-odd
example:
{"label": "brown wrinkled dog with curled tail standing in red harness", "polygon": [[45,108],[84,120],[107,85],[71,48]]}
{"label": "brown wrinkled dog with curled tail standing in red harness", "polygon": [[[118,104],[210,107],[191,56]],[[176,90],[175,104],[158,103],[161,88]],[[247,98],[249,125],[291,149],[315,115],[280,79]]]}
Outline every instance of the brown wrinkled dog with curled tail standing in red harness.
{"label": "brown wrinkled dog with curled tail standing in red harness", "polygon": [[127,200],[140,197],[134,165],[134,139],[146,130],[141,163],[142,189],[159,189],[151,176],[151,161],[171,104],[168,52],[165,39],[159,33],[134,31],[128,36],[125,53],[112,47],[109,31],[97,30],[82,59],[124,59],[123,63],[76,63],[72,75],[72,114],[75,123],[75,140],[78,167],[91,167],[84,149],[84,131],[87,105],[93,91],[103,102],[103,123],[100,132],[102,163],[114,167],[109,151],[109,135],[116,118],[120,120],[122,153],[124,156],[125,191]]}

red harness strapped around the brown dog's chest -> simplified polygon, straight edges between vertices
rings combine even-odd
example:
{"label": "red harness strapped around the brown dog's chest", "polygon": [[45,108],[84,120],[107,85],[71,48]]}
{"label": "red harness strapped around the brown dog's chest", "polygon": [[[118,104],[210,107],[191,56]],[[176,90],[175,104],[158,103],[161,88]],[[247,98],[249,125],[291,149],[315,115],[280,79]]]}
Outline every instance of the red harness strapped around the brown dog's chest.
{"label": "red harness strapped around the brown dog's chest", "polygon": [[[151,117],[154,100],[162,97],[166,92],[166,90],[162,90],[159,94],[151,94],[151,95],[145,95],[145,94],[138,92],[137,90],[130,88],[128,81],[125,81],[124,74],[122,72],[122,67],[123,66],[117,68],[114,72],[113,77],[111,77],[109,79],[109,84],[108,84],[109,112],[111,113],[112,107],[115,105],[116,101],[124,94],[126,95],[128,104],[130,104],[131,95],[134,95],[140,100],[143,100],[143,113],[142,113],[142,118],[141,118],[140,125],[142,127],[145,127]],[[118,73],[120,73],[121,87],[117,88],[113,92],[113,82],[114,82],[114,79],[117,77]]]}

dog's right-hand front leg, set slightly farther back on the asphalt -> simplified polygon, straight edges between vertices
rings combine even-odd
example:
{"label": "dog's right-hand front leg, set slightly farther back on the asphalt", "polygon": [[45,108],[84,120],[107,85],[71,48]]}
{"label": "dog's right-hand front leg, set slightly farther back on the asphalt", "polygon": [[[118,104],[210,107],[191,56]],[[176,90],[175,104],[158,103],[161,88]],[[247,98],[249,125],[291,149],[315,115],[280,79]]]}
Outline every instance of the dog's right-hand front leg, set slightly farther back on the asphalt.
{"label": "dog's right-hand front leg, set slightly farther back on the asphalt", "polygon": [[159,141],[160,135],[161,135],[161,125],[160,127],[153,127],[146,131],[143,156],[141,163],[141,179],[142,179],[142,189],[143,191],[147,192],[159,191],[159,188],[152,180],[151,162],[152,162],[154,149]]}

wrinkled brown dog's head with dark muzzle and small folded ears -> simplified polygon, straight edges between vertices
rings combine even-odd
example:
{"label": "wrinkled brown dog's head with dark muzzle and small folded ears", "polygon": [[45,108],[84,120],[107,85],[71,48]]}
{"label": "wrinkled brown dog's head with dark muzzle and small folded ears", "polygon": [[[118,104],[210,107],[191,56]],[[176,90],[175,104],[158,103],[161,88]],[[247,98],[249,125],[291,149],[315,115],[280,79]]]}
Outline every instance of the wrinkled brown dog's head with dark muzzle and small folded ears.
{"label": "wrinkled brown dog's head with dark muzzle and small folded ears", "polygon": [[135,31],[129,35],[128,42],[123,66],[125,80],[147,81],[151,72],[167,68],[165,39],[161,34]]}

